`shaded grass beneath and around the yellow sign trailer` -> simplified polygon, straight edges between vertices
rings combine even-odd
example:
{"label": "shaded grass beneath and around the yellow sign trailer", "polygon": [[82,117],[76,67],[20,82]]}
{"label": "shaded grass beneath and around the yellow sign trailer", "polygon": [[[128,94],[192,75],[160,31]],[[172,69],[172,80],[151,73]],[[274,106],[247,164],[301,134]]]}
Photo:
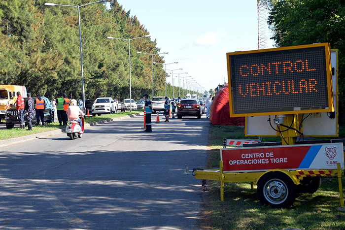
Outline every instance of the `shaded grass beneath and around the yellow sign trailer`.
{"label": "shaded grass beneath and around the yellow sign trailer", "polygon": [[[243,128],[212,126],[209,134],[208,167],[219,167],[219,149],[223,137],[245,139]],[[249,138],[249,137],[247,137]],[[252,138],[252,137],[251,137]],[[264,137],[263,141],[279,141]],[[321,188],[314,194],[301,194],[290,208],[265,207],[258,199],[256,186],[249,183],[226,183],[224,202],[220,201],[218,182],[211,182],[201,223],[207,230],[345,230],[345,213],[338,212],[339,193],[336,177],[323,178]],[[343,180],[344,184],[344,180]]]}

